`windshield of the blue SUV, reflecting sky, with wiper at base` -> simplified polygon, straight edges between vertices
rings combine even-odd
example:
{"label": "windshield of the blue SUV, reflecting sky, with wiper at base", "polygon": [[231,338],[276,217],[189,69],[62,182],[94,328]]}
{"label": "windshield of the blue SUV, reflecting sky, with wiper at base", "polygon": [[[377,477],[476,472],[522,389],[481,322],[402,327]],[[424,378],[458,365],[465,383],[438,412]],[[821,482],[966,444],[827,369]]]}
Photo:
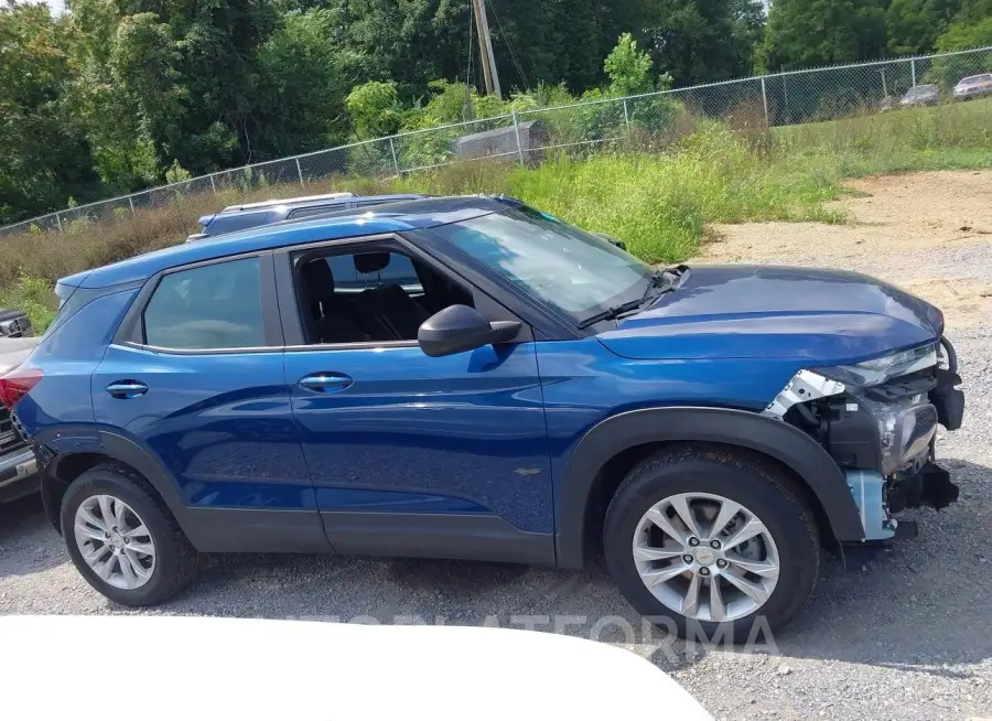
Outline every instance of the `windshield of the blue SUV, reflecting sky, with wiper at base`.
{"label": "windshield of the blue SUV, reflecting sky, with wiper at base", "polygon": [[651,267],[529,207],[434,228],[525,293],[576,321],[641,298]]}

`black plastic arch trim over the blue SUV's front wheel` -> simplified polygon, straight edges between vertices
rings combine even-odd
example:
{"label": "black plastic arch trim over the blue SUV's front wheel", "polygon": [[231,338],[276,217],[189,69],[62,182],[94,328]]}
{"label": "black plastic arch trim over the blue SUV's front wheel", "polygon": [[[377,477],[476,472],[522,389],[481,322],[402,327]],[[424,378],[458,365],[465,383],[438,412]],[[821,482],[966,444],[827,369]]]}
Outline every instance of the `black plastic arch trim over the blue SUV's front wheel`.
{"label": "black plastic arch trim over the blue SUV's front wheel", "polygon": [[864,538],[861,516],[843,472],[819,443],[799,429],[746,410],[647,408],[601,421],[572,451],[558,503],[556,551],[560,568],[578,569],[584,564],[586,503],[606,463],[637,445],[679,441],[737,445],[779,461],[809,486],[838,540]]}

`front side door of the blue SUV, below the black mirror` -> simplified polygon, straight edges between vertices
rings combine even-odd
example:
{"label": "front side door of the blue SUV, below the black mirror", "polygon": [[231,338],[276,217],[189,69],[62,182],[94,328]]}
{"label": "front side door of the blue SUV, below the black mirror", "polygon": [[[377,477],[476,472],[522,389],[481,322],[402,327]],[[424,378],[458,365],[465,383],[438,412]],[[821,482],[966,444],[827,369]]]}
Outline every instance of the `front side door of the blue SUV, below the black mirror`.
{"label": "front side door of the blue SUV, below the black mirror", "polygon": [[[347,268],[342,256],[373,251],[412,260],[423,288],[460,288],[489,320],[517,320],[398,239],[336,244],[317,250],[317,259]],[[324,291],[305,288],[300,268],[313,259],[310,248],[305,257],[277,257],[277,282],[285,381],[334,549],[553,564],[550,460],[530,329],[498,349],[446,357],[424,355],[413,337],[309,344],[301,309],[312,305],[308,294]],[[346,298],[342,290],[330,305],[363,302],[362,293]],[[360,321],[363,309],[353,311]]]}

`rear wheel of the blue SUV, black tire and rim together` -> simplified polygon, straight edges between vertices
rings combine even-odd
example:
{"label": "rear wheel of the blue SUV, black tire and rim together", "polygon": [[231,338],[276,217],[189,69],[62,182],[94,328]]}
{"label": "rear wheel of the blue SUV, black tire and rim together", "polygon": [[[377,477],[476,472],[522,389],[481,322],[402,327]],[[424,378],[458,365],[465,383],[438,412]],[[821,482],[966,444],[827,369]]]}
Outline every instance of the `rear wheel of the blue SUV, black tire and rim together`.
{"label": "rear wheel of the blue SUV, black tire and rim together", "polygon": [[76,569],[111,601],[154,605],[195,574],[195,549],[130,469],[105,464],[83,473],[65,492],[60,518]]}

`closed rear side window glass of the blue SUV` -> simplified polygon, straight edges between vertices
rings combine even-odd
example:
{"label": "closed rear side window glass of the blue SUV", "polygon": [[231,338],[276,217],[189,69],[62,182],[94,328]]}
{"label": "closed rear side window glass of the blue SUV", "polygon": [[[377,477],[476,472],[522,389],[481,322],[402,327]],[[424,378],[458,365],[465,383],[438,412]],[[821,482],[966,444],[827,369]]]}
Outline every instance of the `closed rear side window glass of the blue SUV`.
{"label": "closed rear side window glass of the blue SUV", "polygon": [[258,258],[164,276],[142,316],[148,345],[182,351],[266,344]]}

